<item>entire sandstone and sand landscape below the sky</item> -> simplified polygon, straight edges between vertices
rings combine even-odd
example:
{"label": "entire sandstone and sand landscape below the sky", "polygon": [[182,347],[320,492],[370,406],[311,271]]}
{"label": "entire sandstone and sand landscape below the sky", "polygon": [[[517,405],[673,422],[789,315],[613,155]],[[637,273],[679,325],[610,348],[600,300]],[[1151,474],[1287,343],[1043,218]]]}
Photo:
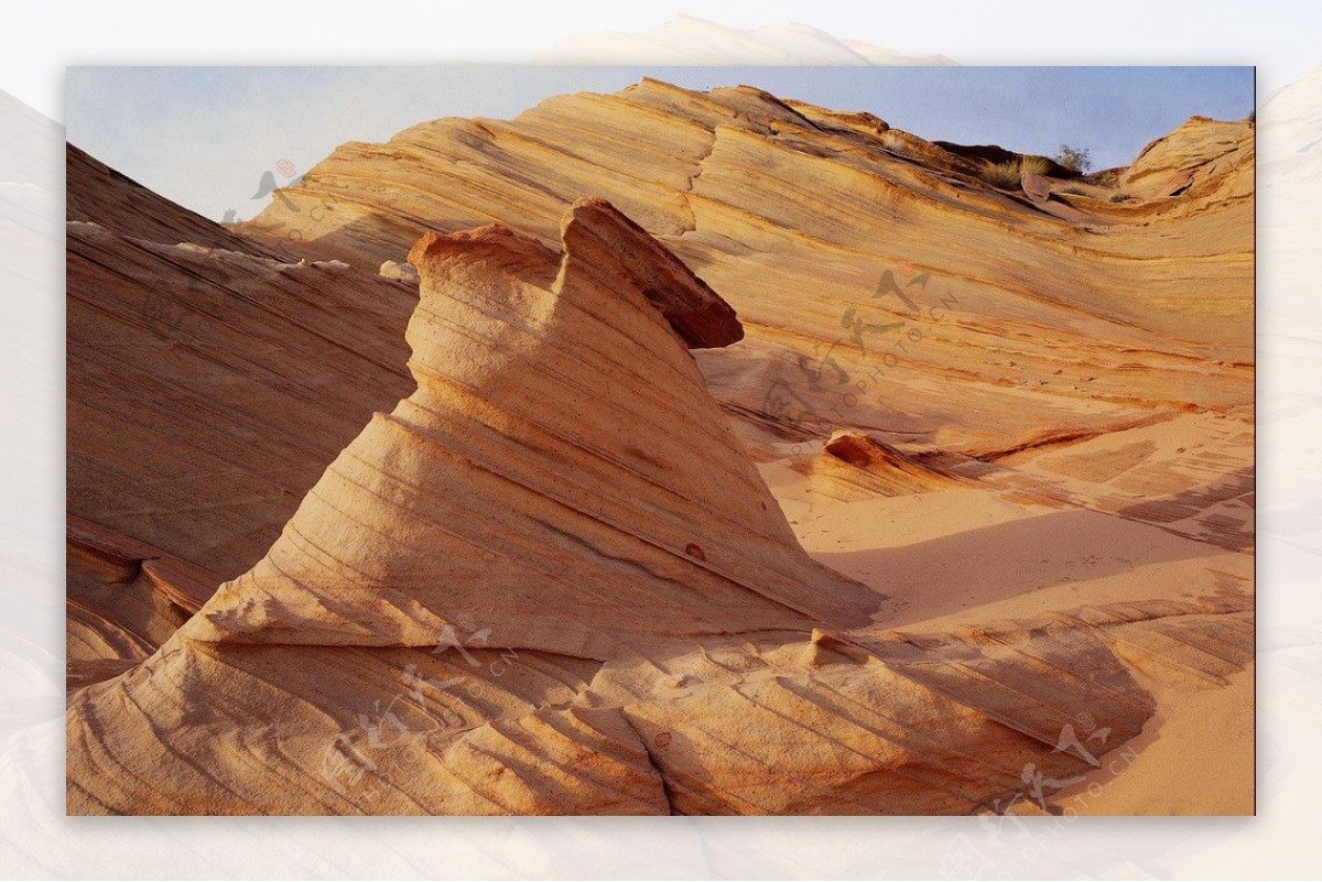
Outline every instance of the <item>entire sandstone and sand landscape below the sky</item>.
{"label": "entire sandstone and sand landscape below the sky", "polygon": [[70,813],[1251,812],[1253,154],[644,81],[225,228],[70,147]]}

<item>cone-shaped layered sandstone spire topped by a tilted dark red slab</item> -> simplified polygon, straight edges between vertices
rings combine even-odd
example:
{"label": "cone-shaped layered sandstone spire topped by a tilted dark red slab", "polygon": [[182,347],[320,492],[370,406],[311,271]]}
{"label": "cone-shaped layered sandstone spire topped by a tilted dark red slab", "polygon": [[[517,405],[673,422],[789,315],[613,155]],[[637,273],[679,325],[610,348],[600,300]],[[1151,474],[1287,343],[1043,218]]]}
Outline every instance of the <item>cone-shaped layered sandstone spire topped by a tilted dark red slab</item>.
{"label": "cone-shaped layered sandstone spire topped by a tilted dark red slab", "polygon": [[416,647],[465,618],[611,659],[870,621],[883,598],[802,552],[683,349],[738,339],[734,310],[603,199],[562,228],[562,256],[494,224],[423,236],[418,388],[185,636]]}

